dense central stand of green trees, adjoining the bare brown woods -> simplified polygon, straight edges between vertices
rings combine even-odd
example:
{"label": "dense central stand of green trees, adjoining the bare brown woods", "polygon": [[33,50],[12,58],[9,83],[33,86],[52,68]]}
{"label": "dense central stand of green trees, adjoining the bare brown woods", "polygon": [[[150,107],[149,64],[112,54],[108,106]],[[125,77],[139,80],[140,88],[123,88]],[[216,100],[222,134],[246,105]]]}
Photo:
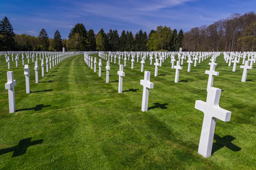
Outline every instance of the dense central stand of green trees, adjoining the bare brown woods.
{"label": "dense central stand of green trees, adjoining the bare brown woods", "polygon": [[93,30],[87,31],[82,23],[71,30],[65,46],[68,50],[97,50],[97,51],[152,51],[178,50],[182,47],[183,31],[171,30],[169,27],[158,26],[151,30],[149,36],[143,30],[135,35],[132,31],[117,30],[105,33],[103,29],[95,35]]}

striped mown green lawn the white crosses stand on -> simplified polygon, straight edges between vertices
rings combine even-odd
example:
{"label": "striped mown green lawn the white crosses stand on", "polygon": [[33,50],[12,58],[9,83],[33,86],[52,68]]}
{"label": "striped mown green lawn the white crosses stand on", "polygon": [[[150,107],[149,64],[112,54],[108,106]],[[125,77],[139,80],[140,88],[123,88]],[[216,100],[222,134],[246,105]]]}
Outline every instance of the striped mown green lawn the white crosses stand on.
{"label": "striped mown green lawn the white crosses stand on", "polygon": [[256,169],[256,69],[242,83],[241,61],[232,72],[222,55],[213,86],[223,90],[220,107],[232,112],[231,120],[217,120],[211,157],[197,153],[203,113],[194,107],[196,100],[206,101],[208,62],[191,66],[191,72],[184,63],[176,84],[170,59],[159,67],[159,77],[147,59],[144,70],[151,72],[154,89],[145,113],[139,84],[144,73],[137,62],[134,69],[130,62],[124,68],[122,94],[117,93],[118,64],[110,64],[110,83],[105,83],[105,60],[102,77],[77,55],[45,77],[40,68],[39,84],[31,63],[31,94],[21,61],[18,68],[12,62],[17,111],[9,114],[2,56],[0,169]]}

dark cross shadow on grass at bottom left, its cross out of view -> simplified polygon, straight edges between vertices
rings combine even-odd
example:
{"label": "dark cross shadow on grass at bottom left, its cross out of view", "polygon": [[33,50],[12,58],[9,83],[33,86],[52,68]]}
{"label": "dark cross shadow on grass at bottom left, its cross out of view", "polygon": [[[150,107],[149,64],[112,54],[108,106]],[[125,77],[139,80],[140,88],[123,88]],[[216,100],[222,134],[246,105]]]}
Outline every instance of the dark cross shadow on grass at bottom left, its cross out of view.
{"label": "dark cross shadow on grass at bottom left, its cross out of view", "polygon": [[18,142],[18,145],[15,147],[0,149],[0,155],[7,154],[9,152],[14,152],[14,154],[11,157],[18,157],[18,156],[25,154],[28,147],[43,143],[43,140],[35,140],[35,141],[31,142],[31,139],[32,139],[32,137],[28,137],[26,139],[20,140]]}

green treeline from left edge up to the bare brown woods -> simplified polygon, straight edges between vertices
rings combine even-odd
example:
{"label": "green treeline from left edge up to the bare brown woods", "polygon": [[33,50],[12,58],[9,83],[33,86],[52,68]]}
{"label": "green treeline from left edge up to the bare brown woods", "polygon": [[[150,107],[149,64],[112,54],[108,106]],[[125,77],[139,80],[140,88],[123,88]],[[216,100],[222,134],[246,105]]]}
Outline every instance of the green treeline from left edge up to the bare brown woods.
{"label": "green treeline from left edge up to the bare brown woods", "polygon": [[159,26],[151,30],[149,35],[139,30],[135,35],[132,31],[122,30],[119,35],[117,30],[109,30],[105,33],[103,29],[95,34],[94,30],[86,30],[82,23],[78,23],[70,31],[68,40],[61,39],[56,30],[54,38],[48,38],[45,29],[42,29],[38,37],[32,35],[15,35],[7,17],[0,22],[0,51],[22,50],[22,51],[151,51],[151,50],[178,50],[182,47],[183,31],[171,30],[169,27]]}

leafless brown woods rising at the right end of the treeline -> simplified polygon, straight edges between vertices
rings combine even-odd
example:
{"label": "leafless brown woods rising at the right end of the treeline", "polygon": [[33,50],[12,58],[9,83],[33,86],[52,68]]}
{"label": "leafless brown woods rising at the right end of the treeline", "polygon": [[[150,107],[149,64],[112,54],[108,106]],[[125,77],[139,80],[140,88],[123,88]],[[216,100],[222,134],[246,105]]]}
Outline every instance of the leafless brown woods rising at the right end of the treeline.
{"label": "leafless brown woods rising at the right end of the treeline", "polygon": [[254,51],[256,14],[233,14],[210,26],[192,28],[184,33],[183,48],[188,51]]}

